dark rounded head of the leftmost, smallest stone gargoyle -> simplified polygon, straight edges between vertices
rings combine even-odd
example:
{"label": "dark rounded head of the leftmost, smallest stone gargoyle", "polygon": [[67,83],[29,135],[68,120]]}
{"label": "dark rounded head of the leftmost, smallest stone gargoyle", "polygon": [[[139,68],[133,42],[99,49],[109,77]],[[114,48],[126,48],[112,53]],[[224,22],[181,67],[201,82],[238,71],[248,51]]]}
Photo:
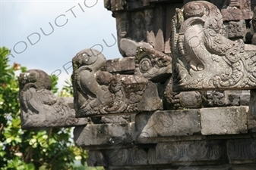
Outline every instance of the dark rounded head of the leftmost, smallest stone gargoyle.
{"label": "dark rounded head of the leftmost, smallest stone gargoyle", "polygon": [[25,73],[21,73],[19,76],[19,84],[21,90],[27,85],[33,85],[37,89],[51,89],[52,82],[48,74],[43,70],[28,70]]}

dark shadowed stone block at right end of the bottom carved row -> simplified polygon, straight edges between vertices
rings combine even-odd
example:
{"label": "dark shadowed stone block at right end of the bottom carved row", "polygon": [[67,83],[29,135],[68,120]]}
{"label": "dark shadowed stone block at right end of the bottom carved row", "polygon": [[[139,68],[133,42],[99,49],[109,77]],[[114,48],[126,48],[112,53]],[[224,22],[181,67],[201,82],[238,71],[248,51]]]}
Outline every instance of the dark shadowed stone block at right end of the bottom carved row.
{"label": "dark shadowed stone block at right end of the bottom carved row", "polygon": [[234,139],[227,141],[227,153],[232,164],[254,163],[256,159],[255,139]]}

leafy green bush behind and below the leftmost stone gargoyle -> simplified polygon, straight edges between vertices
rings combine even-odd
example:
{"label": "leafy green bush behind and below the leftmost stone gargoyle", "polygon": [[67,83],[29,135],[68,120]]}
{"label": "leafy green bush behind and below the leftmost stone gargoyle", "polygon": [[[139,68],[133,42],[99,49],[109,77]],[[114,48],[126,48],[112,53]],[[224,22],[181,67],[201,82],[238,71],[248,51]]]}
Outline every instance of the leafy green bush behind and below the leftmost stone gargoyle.
{"label": "leafy green bush behind and below the leftmost stone gargoyle", "polygon": [[[9,53],[7,48],[0,48],[0,170],[77,169],[74,160],[84,164],[88,155],[74,145],[71,128],[21,129],[17,74],[27,69],[17,63],[9,66]],[[58,77],[51,79],[56,94]],[[68,84],[58,95],[69,97],[71,91]]]}

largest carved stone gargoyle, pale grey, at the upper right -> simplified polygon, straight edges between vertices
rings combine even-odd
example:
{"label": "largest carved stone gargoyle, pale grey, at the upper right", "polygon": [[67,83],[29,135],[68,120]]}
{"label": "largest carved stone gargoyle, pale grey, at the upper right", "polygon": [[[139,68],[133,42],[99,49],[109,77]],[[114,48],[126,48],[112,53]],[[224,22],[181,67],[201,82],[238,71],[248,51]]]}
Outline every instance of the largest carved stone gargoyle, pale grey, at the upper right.
{"label": "largest carved stone gargoyle, pale grey, at the upper right", "polygon": [[256,46],[222,35],[219,9],[189,2],[172,19],[173,90],[256,87]]}

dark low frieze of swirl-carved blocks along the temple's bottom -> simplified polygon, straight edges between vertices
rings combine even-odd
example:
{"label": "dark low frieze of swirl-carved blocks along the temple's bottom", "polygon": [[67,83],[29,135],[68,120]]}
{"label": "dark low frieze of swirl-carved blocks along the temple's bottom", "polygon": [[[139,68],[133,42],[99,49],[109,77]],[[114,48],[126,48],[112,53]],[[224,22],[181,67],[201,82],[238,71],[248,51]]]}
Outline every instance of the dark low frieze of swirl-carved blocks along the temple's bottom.
{"label": "dark low frieze of swirl-carved blocks along the temple's bottom", "polygon": [[225,141],[177,141],[134,145],[112,150],[90,150],[88,165],[221,165],[228,162]]}

